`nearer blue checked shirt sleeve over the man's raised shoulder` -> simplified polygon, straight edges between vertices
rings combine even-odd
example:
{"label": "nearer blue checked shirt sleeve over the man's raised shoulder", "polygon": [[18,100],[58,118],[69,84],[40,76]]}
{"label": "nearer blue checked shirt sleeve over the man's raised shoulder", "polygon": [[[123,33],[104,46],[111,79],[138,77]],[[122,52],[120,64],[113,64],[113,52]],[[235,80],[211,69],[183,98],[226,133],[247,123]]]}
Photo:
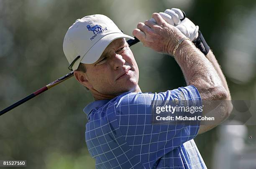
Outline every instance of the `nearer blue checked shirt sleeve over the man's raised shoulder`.
{"label": "nearer blue checked shirt sleeve over the man's raised shoulder", "polygon": [[[198,133],[197,125],[152,125],[151,103],[154,100],[200,101],[195,86],[180,87],[161,93],[128,93],[115,104],[115,114],[120,130],[133,152],[141,162],[156,162],[164,154],[172,151]],[[197,105],[197,106],[200,106]]]}

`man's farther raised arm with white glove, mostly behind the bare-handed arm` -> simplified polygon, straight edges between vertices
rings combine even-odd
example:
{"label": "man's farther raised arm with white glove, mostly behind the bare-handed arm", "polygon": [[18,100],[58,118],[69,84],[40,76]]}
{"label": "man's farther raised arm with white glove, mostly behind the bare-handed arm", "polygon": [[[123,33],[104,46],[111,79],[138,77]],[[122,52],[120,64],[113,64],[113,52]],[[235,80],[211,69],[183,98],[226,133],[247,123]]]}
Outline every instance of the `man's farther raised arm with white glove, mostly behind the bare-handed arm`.
{"label": "man's farther raised arm with white glove, mostly behind the bare-handed arm", "polygon": [[[202,33],[199,31],[199,27],[196,26],[191,20],[188,18],[185,18],[184,12],[182,12],[180,9],[172,8],[167,9],[164,11],[164,13],[159,13],[164,20],[174,25],[176,28],[178,28],[187,38],[192,40],[192,42],[195,44],[195,46],[200,49],[200,51],[206,56],[206,58],[212,63],[212,66],[217,71],[222,84],[225,88],[225,90],[228,93],[228,97],[225,101],[220,103],[220,106],[214,109],[211,113],[208,113],[208,116],[215,116],[215,123],[202,126],[200,128],[199,133],[205,132],[209,129],[212,129],[214,126],[220,124],[222,121],[224,121],[230,114],[230,112],[233,109],[233,105],[231,103],[231,96],[230,91],[228,88],[228,83],[225,79],[225,76],[223,72],[221,71],[220,65],[218,64],[218,61],[216,60],[215,56],[213,55],[212,51],[210,50],[210,47],[207,45],[204,37],[202,36]],[[174,22],[175,21],[175,22]],[[206,104],[212,104],[212,102],[204,101]],[[214,103],[214,102],[213,102]],[[212,104],[214,105],[214,104]],[[204,112],[205,114],[207,112]]]}

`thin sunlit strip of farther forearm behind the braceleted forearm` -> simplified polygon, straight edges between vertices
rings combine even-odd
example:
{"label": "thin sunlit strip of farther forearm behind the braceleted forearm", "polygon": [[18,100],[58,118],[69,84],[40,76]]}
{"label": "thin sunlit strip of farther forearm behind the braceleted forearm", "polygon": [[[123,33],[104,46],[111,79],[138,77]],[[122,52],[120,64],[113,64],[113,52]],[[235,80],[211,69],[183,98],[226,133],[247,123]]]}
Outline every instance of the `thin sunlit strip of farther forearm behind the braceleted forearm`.
{"label": "thin sunlit strip of farther forearm behind the braceleted forearm", "polygon": [[211,50],[206,55],[206,58],[212,63],[213,67],[215,68],[218,75],[220,76],[220,79],[222,81],[222,84],[223,84],[224,88],[228,92],[228,97],[227,97],[226,100],[231,100],[231,95],[230,95],[230,91],[229,91],[229,88],[228,88],[228,83],[225,79],[225,76],[224,76],[223,72],[221,71],[220,65],[218,64],[218,61],[216,60],[215,55],[212,53]]}

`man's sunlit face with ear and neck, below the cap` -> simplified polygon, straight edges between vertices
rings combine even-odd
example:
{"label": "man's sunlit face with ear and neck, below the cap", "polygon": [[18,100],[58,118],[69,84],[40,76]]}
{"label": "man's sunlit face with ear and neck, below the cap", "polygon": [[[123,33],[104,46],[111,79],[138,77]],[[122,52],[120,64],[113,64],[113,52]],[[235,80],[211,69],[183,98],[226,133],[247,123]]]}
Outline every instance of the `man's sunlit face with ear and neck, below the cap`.
{"label": "man's sunlit face with ear and neck, below the cap", "polygon": [[86,72],[74,71],[74,76],[89,88],[95,100],[111,99],[127,91],[141,91],[138,65],[124,38],[111,42],[95,63],[84,66]]}

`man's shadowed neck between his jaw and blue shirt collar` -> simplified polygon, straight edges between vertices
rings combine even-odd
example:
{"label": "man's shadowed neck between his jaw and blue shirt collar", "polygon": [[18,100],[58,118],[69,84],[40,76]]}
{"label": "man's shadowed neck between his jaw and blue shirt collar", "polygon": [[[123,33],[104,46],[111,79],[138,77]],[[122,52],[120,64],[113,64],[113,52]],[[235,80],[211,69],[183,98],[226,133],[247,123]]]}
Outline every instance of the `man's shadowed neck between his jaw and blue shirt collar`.
{"label": "man's shadowed neck between his jaw and blue shirt collar", "polygon": [[[96,91],[95,89],[90,89],[90,92],[92,93],[94,100],[97,101],[97,100],[111,100],[112,98],[115,98],[116,96],[119,96],[120,94],[128,92],[128,91],[113,94],[113,95],[112,94],[103,94],[103,93]],[[137,85],[137,87],[134,88],[133,90],[131,90],[131,92],[135,92],[135,93],[141,92],[141,88]]]}

